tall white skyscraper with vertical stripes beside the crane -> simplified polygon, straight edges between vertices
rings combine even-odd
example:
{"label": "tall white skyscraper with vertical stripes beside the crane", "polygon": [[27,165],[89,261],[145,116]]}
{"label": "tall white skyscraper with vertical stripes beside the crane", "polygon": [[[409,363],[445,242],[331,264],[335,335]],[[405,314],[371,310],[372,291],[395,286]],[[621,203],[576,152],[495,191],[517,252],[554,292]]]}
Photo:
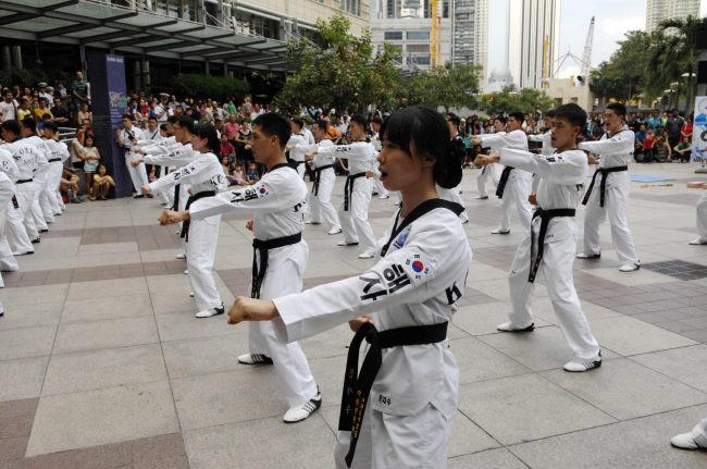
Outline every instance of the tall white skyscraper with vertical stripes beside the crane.
{"label": "tall white skyscraper with vertical stripes beside the crane", "polygon": [[[520,88],[539,88],[560,44],[560,0],[509,0],[506,60]],[[547,44],[547,50],[545,50]]]}

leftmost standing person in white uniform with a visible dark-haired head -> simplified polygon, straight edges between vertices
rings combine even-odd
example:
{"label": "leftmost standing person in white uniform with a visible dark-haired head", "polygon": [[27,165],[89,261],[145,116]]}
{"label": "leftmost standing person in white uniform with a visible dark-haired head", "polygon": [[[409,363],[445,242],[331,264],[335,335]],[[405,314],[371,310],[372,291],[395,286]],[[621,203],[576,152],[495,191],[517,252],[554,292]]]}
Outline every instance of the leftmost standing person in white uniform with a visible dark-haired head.
{"label": "leftmost standing person in white uniform with a visible dark-haired head", "polygon": [[[17,180],[14,181],[16,187],[16,199],[20,208],[18,212],[13,212],[12,217],[17,215],[22,220],[25,229],[25,235],[29,237],[33,244],[39,243],[39,232],[35,225],[34,217],[32,215],[32,205],[35,200],[35,192],[37,188],[34,184],[34,174],[38,168],[49,164],[44,155],[41,155],[37,147],[22,138],[20,123],[17,121],[5,121],[1,125],[2,139],[7,141],[3,146],[5,150],[12,153],[12,158],[17,165]],[[34,249],[21,247],[22,235],[17,233],[18,226],[10,223],[10,234],[12,240],[17,247],[17,254],[32,254]]]}

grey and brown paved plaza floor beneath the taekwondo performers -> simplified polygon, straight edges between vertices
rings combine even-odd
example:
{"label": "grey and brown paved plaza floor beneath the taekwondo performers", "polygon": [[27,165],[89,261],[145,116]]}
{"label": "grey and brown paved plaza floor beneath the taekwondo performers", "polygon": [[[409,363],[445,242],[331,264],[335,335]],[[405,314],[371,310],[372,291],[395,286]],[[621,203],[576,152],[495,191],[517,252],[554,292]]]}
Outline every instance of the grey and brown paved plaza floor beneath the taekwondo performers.
{"label": "grey and brown paved plaza floor beneath the taekwondo performers", "polygon": [[[581,374],[561,369],[571,353],[542,279],[535,332],[497,333],[521,230],[489,234],[500,203],[473,199],[477,170],[464,170],[474,259],[449,334],[461,381],[449,468],[707,467],[707,453],[669,444],[707,417],[707,246],[687,245],[702,190],[685,187],[707,176],[687,164],[631,170],[675,181],[633,184],[629,220],[643,269],[619,272],[607,224],[600,261],[574,263],[605,358]],[[376,235],[394,210],[373,199]],[[324,404],[305,422],[283,423],[272,367],[236,362],[247,326],[194,318],[178,237],[157,225],[159,212],[150,199],[69,205],[36,254],[18,258],[21,272],[4,274],[0,468],[332,468],[348,326],[301,343]],[[221,224],[215,269],[226,304],[248,289],[244,224]],[[308,287],[370,264],[323,226],[308,225],[305,238]]]}

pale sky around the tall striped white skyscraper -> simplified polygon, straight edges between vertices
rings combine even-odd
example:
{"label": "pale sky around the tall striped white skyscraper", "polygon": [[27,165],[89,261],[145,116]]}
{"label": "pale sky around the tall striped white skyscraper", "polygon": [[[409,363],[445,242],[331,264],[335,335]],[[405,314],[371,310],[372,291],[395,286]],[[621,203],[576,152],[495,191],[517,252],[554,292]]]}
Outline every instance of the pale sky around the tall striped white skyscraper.
{"label": "pale sky around the tall striped white skyscraper", "polygon": [[[488,0],[488,71],[506,62],[506,0]],[[707,10],[707,0],[702,0],[700,14]],[[595,16],[592,66],[611,57],[618,48],[617,41],[632,29],[644,29],[646,25],[646,0],[562,0],[560,10],[560,47],[558,57],[571,51],[582,57],[590,18]],[[580,66],[571,59],[565,61],[558,77],[576,75]]]}

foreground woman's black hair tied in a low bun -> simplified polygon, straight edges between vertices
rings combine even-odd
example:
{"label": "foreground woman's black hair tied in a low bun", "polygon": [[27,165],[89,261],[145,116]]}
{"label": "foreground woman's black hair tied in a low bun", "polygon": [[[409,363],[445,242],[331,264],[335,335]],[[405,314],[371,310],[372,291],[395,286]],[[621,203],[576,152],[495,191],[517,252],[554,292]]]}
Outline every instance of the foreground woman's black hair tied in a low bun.
{"label": "foreground woman's black hair tied in a low bun", "polygon": [[[451,139],[447,121],[437,111],[421,106],[411,106],[390,114],[381,127],[381,139],[387,140],[408,155],[414,143],[419,157],[434,157],[433,177],[445,189],[461,182],[461,157],[458,146]],[[462,144],[463,145],[463,144]]]}

